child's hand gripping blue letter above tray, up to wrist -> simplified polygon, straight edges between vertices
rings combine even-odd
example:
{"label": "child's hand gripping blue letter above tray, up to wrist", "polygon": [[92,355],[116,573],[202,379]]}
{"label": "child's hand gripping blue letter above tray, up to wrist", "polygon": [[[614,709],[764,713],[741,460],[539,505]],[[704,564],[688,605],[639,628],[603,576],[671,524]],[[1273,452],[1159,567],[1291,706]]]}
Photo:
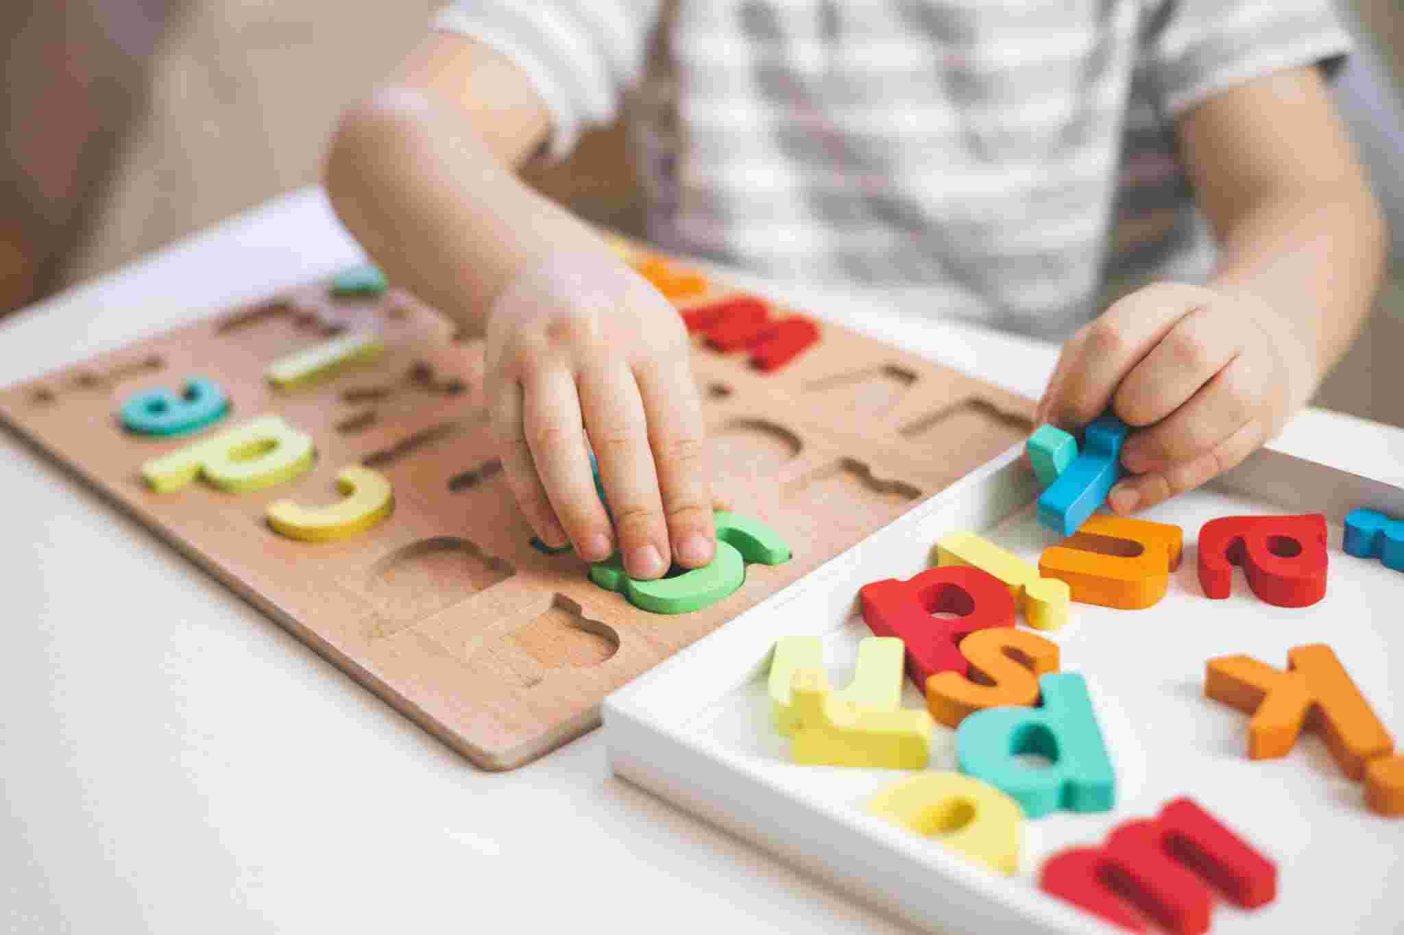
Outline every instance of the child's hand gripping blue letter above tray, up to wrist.
{"label": "child's hand gripping blue letter above tray, up to wrist", "polygon": [[1158,283],[1064,346],[1036,425],[1074,430],[1108,405],[1133,432],[1106,498],[1126,514],[1205,484],[1278,433],[1317,383],[1310,338],[1248,299]]}

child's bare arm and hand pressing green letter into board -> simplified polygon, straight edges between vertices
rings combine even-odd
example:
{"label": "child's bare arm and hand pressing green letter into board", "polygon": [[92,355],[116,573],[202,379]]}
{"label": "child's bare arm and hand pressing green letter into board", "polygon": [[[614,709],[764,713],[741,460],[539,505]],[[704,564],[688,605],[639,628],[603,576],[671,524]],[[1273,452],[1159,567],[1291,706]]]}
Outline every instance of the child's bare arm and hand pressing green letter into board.
{"label": "child's bare arm and hand pressing green letter into board", "polygon": [[[486,332],[503,468],[548,544],[618,547],[633,578],[712,559],[701,402],[675,310],[514,167],[548,111],[487,46],[432,36],[341,121],[326,167],[337,213],[393,282]],[[585,433],[614,513],[611,528]]]}

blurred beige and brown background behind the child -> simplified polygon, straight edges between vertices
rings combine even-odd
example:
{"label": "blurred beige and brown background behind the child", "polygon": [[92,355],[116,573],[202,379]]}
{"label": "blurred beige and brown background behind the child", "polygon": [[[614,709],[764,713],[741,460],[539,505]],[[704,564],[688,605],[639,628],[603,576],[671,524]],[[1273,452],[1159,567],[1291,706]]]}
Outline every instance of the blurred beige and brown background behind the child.
{"label": "blurred beige and brown background behind the child", "polygon": [[[337,114],[441,3],[3,0],[0,314],[314,184]],[[1404,425],[1404,4],[1338,6],[1360,50],[1337,97],[1390,216],[1394,266],[1317,402]],[[531,181],[640,231],[622,126]]]}

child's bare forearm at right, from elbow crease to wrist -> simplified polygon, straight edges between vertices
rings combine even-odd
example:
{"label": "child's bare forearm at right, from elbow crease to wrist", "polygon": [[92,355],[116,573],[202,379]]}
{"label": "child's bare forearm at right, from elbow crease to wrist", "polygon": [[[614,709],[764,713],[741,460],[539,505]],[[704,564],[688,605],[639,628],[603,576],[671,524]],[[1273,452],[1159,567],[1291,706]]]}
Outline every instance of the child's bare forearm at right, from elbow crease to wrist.
{"label": "child's bare forearm at right, from elbow crease to wrist", "polygon": [[1379,205],[1360,184],[1264,198],[1221,241],[1212,287],[1290,321],[1309,352],[1304,405],[1351,346],[1380,286],[1386,255]]}

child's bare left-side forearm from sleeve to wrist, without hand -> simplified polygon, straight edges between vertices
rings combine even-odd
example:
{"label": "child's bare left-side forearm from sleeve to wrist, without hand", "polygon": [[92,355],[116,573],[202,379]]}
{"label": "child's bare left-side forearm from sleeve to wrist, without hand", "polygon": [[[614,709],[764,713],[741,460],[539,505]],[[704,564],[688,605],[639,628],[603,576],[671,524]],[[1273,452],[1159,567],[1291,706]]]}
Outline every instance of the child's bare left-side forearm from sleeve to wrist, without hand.
{"label": "child's bare left-side forearm from sleeve to wrist, without hand", "polygon": [[[529,107],[486,114],[446,97],[438,77],[411,69],[351,109],[327,156],[326,186],[343,223],[393,282],[476,332],[491,300],[528,265],[605,248],[512,171],[535,149],[543,121],[534,125]],[[498,93],[504,79],[479,74]]]}

